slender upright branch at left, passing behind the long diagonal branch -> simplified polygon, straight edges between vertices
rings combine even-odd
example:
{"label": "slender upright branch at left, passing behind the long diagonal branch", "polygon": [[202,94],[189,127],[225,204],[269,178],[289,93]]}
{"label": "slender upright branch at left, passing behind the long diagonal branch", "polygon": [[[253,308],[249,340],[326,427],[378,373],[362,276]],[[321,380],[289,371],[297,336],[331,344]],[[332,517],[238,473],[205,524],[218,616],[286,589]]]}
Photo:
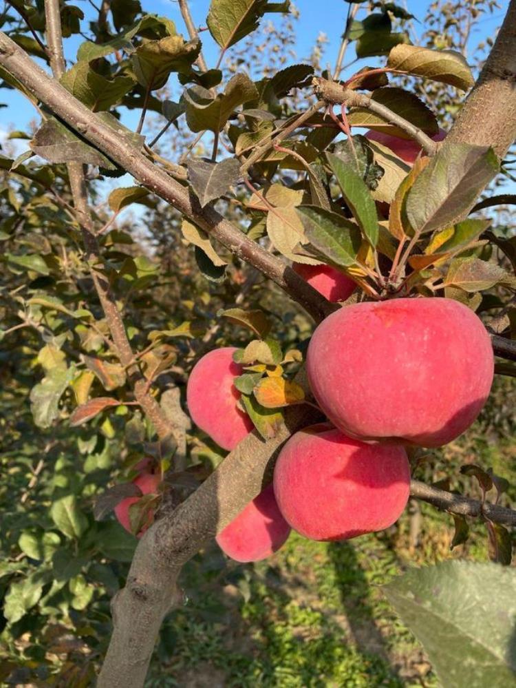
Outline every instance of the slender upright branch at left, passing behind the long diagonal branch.
{"label": "slender upright branch at left, passing behind the long diagonal branch", "polygon": [[[50,52],[50,65],[56,79],[60,79],[65,72],[65,57],[63,55],[63,35],[61,33],[61,15],[59,0],[45,0],[45,19],[47,28],[47,42]],[[47,77],[48,78],[48,77]],[[90,272],[95,289],[103,308],[106,322],[111,332],[118,359],[122,366],[127,368],[129,379],[133,383],[136,400],[142,407],[153,424],[156,432],[162,438],[171,434],[171,424],[166,419],[158,402],[149,394],[147,382],[144,379],[138,365],[133,363],[134,355],[127,338],[122,315],[116,305],[116,299],[111,292],[109,282],[98,271],[97,265],[101,262],[100,247],[95,235],[92,213],[89,210],[88,193],[86,187],[83,165],[80,163],[68,163],[68,176],[72,190],[72,198],[78,215],[80,231],[86,249],[86,260],[90,265]]]}

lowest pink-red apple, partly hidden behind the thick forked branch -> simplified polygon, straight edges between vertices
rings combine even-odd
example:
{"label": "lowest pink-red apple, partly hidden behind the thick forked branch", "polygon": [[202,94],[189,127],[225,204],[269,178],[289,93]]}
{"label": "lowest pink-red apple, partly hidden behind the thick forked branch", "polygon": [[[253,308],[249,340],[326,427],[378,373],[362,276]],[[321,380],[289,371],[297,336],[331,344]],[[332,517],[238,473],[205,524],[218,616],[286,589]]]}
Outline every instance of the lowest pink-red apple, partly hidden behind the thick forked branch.
{"label": "lowest pink-red apple, partly hidden behind the thick forked branch", "polygon": [[217,535],[219,548],[235,561],[261,561],[286,543],[290,525],[281,515],[272,485],[262,490]]}

